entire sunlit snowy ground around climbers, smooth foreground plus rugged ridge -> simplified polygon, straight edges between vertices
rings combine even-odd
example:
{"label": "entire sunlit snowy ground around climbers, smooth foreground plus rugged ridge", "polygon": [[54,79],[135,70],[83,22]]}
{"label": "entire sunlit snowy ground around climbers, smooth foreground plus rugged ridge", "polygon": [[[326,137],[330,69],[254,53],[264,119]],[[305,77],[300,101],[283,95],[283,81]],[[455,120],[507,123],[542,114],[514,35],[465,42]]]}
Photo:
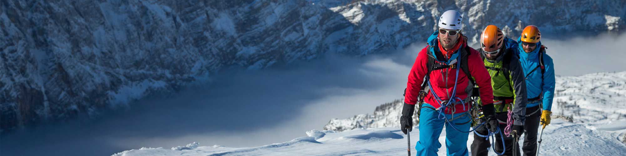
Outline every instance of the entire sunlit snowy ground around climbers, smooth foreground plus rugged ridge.
{"label": "entire sunlit snowy ground around climbers, smooth foreground plus rugged ridge", "polygon": [[[557,77],[555,100],[559,102],[553,105],[552,124],[544,130],[541,154],[623,155],[626,152],[624,94],[626,72]],[[372,115],[332,119],[324,127],[327,130],[310,130],[307,136],[279,144],[232,148],[198,147],[194,142],[172,149],[142,148],[114,155],[406,155],[406,138],[397,128],[402,102],[394,100],[380,105]],[[468,145],[473,135],[469,134]],[[440,136],[439,142],[444,145],[445,130]],[[413,154],[418,138],[416,125],[411,133]],[[438,154],[445,155],[445,148],[439,149]],[[490,151],[490,155],[496,154]]]}

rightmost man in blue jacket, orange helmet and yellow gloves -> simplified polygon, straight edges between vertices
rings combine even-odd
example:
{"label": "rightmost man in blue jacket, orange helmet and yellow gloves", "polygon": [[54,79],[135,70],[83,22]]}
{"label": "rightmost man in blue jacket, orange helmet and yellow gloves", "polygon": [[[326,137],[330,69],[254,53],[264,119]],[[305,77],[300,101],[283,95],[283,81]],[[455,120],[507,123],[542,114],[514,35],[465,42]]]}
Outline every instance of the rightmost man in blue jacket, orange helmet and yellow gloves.
{"label": "rightmost man in blue jacket, orange helmet and yellow gloves", "polygon": [[[539,124],[550,124],[550,110],[554,98],[555,75],[552,57],[541,46],[541,32],[536,26],[526,26],[518,39],[520,64],[526,79],[526,136],[521,148],[524,155],[534,156],[537,150]],[[543,109],[543,111],[541,111]]]}

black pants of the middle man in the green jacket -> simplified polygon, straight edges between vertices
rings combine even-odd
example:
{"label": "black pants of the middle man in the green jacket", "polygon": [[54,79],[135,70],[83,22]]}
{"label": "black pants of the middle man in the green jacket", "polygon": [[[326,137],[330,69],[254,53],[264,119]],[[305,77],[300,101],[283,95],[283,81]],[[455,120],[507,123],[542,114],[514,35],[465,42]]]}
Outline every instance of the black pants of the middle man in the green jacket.
{"label": "black pants of the middle man in the green jacket", "polygon": [[[498,120],[502,120],[506,122],[506,112],[501,112],[501,113],[497,113],[496,114],[496,119]],[[506,124],[500,124],[500,133],[496,134],[494,136],[495,139],[495,143],[494,143],[494,147],[493,149],[496,150],[496,152],[500,153],[502,152],[502,150],[504,150],[502,148],[502,138],[500,137],[500,135],[504,135],[503,130],[505,130]],[[476,132],[478,132],[478,134],[481,135],[487,135],[487,129],[485,127],[485,125],[481,125],[480,127],[476,128]],[[513,155],[513,137],[508,137],[508,136],[504,136],[505,138],[505,149],[506,152],[503,155]],[[515,146],[516,147],[520,147],[520,145],[518,145],[517,142],[515,142]],[[476,134],[474,134],[474,142],[472,142],[471,144],[471,155],[488,155],[489,150],[487,150],[487,148],[491,147],[491,141],[490,140],[485,140],[484,137],[480,137]],[[520,150],[517,150],[518,154],[520,155]]]}

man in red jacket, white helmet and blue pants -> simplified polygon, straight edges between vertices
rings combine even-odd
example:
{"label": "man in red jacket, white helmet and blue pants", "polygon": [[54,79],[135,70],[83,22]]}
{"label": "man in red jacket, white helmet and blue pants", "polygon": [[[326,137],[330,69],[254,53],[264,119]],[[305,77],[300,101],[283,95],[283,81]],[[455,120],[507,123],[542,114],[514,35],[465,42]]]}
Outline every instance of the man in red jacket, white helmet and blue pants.
{"label": "man in red jacket, white helmet and blue pants", "polygon": [[494,117],[491,77],[480,54],[467,46],[467,39],[460,32],[462,21],[459,12],[444,12],[439,18],[439,31],[428,38],[429,46],[419,52],[409,72],[400,123],[404,134],[413,129],[413,112],[421,95],[420,100],[424,103],[419,107],[417,155],[437,155],[441,147],[438,139],[444,124],[448,155],[468,155],[467,140],[471,125],[469,98],[474,94],[475,85],[480,89],[484,104],[486,127],[491,132],[496,132],[498,127]]}

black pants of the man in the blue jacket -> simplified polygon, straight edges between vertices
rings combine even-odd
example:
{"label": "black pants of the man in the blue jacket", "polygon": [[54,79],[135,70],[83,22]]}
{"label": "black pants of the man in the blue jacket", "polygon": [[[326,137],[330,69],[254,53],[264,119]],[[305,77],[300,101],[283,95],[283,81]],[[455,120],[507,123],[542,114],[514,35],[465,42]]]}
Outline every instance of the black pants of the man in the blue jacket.
{"label": "black pants of the man in the blue jacket", "polygon": [[[530,116],[526,116],[526,121],[524,122],[524,146],[521,147],[521,150],[524,152],[524,155],[535,156],[537,152],[537,130],[539,129],[539,120],[541,119],[541,110],[540,105],[535,107],[526,108],[526,114]],[[531,114],[535,111],[535,114]]]}

